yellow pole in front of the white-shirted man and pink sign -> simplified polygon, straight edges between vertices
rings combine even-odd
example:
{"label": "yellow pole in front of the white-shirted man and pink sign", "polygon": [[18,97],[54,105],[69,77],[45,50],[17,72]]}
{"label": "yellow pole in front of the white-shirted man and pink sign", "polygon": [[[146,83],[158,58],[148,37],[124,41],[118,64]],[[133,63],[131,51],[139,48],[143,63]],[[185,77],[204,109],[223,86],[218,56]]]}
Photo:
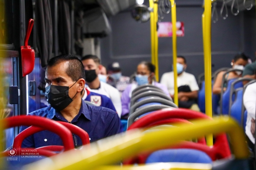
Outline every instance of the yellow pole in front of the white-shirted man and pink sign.
{"label": "yellow pole in front of the white-shirted man and pink sign", "polygon": [[172,58],[174,72],[174,102],[178,106],[178,85],[177,85],[177,28],[176,28],[176,3],[175,0],[170,0],[172,5]]}

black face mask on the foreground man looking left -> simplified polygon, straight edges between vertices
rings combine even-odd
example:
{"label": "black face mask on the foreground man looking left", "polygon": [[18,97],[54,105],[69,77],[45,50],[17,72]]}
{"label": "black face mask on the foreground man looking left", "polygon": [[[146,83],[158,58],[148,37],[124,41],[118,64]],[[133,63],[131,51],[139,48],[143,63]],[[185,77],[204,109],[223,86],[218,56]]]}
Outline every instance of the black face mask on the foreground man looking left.
{"label": "black face mask on the foreground man looking left", "polygon": [[[75,85],[76,82],[73,84]],[[73,86],[72,85],[72,86]],[[70,88],[72,88],[72,86]],[[68,86],[60,86],[60,85],[49,85],[45,88],[45,99],[47,102],[57,111],[62,111],[64,108],[73,101],[68,95],[68,91],[70,89]],[[77,94],[77,92],[76,92]]]}

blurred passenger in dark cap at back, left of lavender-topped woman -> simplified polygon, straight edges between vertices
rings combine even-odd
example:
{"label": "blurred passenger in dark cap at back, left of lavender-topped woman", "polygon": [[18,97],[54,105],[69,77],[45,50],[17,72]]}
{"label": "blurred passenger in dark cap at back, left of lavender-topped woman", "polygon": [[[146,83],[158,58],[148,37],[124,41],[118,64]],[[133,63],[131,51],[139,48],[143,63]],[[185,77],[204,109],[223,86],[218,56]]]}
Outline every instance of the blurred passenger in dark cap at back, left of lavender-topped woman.
{"label": "blurred passenger in dark cap at back, left of lavender-topped woman", "polygon": [[[112,64],[108,65],[108,74],[116,79],[116,88],[120,92],[120,96],[122,96],[122,92],[129,85],[130,77],[122,76],[121,68],[118,62],[113,62]],[[107,83],[114,86],[111,79],[108,79]]]}

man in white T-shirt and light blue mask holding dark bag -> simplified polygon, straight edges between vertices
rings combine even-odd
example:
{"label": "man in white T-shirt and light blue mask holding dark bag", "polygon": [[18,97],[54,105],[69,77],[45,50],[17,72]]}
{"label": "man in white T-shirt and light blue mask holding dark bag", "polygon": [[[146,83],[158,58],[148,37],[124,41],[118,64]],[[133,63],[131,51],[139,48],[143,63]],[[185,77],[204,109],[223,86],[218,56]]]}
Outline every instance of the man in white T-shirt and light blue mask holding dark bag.
{"label": "man in white T-shirt and light blue mask holding dark bag", "polygon": [[[177,56],[177,86],[178,86],[178,99],[179,108],[191,108],[195,111],[200,111],[198,105],[195,104],[195,99],[198,97],[198,84],[195,76],[189,74],[186,71],[187,64],[186,58],[183,56]],[[166,85],[169,94],[174,98],[174,73],[168,72],[163,74],[161,83]]]}

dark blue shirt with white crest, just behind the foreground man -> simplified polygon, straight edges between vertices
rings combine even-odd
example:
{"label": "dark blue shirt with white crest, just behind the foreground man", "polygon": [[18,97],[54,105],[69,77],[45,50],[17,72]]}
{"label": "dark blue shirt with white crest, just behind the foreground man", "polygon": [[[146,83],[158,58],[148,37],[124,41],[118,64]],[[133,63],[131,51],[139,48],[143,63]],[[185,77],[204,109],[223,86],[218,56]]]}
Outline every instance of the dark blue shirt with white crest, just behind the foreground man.
{"label": "dark blue shirt with white crest, just behind the foreground man", "polygon": [[85,93],[87,93],[87,97],[84,99],[88,102],[92,102],[97,106],[101,106],[104,108],[109,108],[116,112],[116,108],[113,105],[112,101],[108,96],[105,96],[103,94],[94,93],[92,91],[88,91],[87,88],[85,89]]}

